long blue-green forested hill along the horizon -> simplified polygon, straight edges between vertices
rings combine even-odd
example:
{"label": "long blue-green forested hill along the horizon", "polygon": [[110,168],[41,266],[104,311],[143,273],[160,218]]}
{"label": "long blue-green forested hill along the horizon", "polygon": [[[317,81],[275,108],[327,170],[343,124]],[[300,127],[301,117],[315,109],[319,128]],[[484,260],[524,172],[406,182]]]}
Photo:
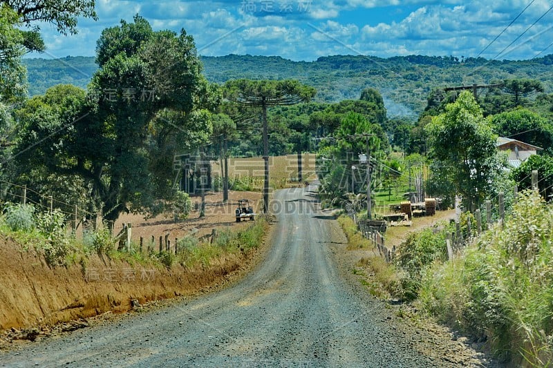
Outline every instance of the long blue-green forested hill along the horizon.
{"label": "long blue-green forested hill along the horizon", "polygon": [[[530,78],[553,92],[553,55],[527,61],[489,61],[456,57],[379,57],[337,55],[316,61],[290,61],[281,57],[227,55],[202,57],[209,81],[228,79],[299,79],[317,88],[317,101],[357,99],[361,90],[377,88],[388,117],[416,117],[435,87],[489,84],[503,79]],[[55,84],[85,88],[96,70],[93,57],[25,59],[29,94],[44,93]]]}

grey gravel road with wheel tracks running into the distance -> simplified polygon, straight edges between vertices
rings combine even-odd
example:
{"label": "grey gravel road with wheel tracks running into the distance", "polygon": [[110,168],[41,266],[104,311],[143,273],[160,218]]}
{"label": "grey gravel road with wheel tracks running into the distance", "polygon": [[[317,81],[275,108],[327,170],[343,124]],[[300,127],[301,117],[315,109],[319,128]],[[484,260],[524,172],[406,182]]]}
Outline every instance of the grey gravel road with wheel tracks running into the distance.
{"label": "grey gravel road with wheel tracks running into the distance", "polygon": [[[275,193],[272,247],[232,287],[0,356],[5,366],[429,367],[393,311],[344,278],[314,187]],[[416,333],[413,332],[416,336]]]}

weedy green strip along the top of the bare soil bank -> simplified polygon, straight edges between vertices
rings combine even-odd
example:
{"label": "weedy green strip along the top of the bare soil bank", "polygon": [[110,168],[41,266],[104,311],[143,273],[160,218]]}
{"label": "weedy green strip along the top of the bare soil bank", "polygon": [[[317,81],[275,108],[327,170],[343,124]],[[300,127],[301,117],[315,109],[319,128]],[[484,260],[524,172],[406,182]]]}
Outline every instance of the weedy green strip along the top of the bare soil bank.
{"label": "weedy green strip along the top of the bare soil bank", "polygon": [[67,235],[62,213],[36,213],[32,206],[8,204],[0,217],[0,235],[20,244],[24,250],[34,250],[44,256],[50,267],[86,267],[92,254],[106,255],[111,260],[124,261],[131,266],[171,267],[178,263],[187,268],[209,264],[227,254],[247,253],[263,242],[268,227],[261,217],[245,229],[221,229],[213,242],[199,242],[196,238],[179,240],[178,253],[141,253],[138,244],[131,251],[118,251],[115,240],[106,229],[88,232],[82,240]]}

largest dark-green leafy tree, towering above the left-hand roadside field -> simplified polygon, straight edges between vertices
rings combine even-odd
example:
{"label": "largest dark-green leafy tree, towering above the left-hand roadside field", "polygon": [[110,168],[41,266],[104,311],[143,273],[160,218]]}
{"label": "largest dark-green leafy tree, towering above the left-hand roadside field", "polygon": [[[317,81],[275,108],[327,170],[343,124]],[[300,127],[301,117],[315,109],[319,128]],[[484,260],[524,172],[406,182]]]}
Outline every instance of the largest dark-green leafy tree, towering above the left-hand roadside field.
{"label": "largest dark-green leafy tree, towering above the left-hand roadside field", "polygon": [[[76,113],[66,117],[66,127],[40,141],[30,127],[55,122],[44,110],[35,123],[24,124],[29,139],[17,149],[21,159],[28,158],[23,164],[46,162],[53,173],[81,177],[89,188],[89,211],[100,210],[109,221],[125,210],[151,213],[156,200],[171,193],[174,178],[158,173],[176,151],[194,144],[191,139],[198,146],[209,138],[209,113],[202,108],[216,104],[200,75],[194,40],[184,30],[153,32],[138,16],[119,28],[102,32],[98,55],[111,56],[102,59],[82,108],[66,109]],[[135,48],[115,52],[113,34],[116,44]],[[50,125],[48,131],[56,132]],[[170,152],[165,148],[175,144],[173,137],[180,145]]]}

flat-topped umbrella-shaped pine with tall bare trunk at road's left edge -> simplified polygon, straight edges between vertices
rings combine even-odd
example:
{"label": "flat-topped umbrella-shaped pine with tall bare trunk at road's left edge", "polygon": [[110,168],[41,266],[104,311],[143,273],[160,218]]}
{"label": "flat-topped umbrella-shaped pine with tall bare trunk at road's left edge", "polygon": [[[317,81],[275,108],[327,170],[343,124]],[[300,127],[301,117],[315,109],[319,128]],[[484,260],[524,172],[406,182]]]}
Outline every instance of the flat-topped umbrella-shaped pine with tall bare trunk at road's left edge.
{"label": "flat-topped umbrella-shaped pine with tall bare trunk at road's left edge", "polygon": [[261,108],[263,119],[263,160],[265,161],[265,180],[263,184],[263,211],[269,211],[269,137],[267,110],[273,106],[294,105],[312,99],[315,88],[305,86],[299,81],[251,81],[237,79],[225,84],[227,97],[238,104],[250,108]]}

